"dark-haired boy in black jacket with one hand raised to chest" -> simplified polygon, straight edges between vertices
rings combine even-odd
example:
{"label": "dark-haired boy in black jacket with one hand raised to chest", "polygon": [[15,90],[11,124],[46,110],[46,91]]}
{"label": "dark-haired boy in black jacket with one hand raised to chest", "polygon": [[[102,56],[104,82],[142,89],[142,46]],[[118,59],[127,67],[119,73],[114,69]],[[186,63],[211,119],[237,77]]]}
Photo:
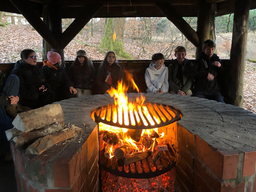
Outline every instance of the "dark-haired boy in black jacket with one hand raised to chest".
{"label": "dark-haired boy in black jacket with one hand raised to chest", "polygon": [[204,41],[203,52],[195,61],[190,70],[190,75],[195,76],[193,95],[222,102],[219,80],[223,73],[221,59],[214,53],[216,43],[210,39]]}

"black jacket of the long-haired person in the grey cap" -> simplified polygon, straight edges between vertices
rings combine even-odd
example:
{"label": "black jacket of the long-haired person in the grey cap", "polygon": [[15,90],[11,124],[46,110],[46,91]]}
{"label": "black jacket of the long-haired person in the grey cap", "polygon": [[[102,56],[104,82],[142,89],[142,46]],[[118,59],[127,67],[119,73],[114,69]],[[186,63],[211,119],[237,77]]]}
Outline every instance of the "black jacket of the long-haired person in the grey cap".
{"label": "black jacket of the long-haired person in the grey cap", "polygon": [[96,70],[93,65],[90,67],[90,73],[83,72],[82,66],[77,66],[78,70],[75,71],[74,64],[69,68],[69,77],[73,82],[74,88],[92,90],[96,79]]}

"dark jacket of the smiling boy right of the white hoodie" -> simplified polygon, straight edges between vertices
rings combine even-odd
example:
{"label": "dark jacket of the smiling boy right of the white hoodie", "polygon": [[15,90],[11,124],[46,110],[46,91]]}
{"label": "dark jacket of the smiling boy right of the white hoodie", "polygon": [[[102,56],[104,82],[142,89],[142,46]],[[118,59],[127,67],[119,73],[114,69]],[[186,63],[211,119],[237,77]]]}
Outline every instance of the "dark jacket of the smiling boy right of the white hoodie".
{"label": "dark jacket of the smiling boy right of the white hoodie", "polygon": [[169,77],[168,77],[168,83],[169,83],[169,90],[173,90],[176,93],[178,90],[182,90],[184,93],[187,93],[188,90],[191,88],[192,83],[194,81],[194,78],[192,76],[188,76],[188,68],[192,66],[192,61],[189,61],[189,59],[184,60],[184,64],[182,67],[184,67],[184,72],[183,73],[183,82],[181,82],[177,78],[177,72],[178,72],[178,67],[179,63],[177,59],[171,61],[171,64],[168,66],[168,71],[169,71]]}

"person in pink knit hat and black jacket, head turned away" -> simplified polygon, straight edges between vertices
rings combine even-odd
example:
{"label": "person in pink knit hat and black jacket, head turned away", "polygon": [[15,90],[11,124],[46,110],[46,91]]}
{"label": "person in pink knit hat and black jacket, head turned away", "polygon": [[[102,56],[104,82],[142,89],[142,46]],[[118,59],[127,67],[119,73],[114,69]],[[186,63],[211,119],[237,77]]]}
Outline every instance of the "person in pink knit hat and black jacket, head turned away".
{"label": "person in pink knit hat and black jacket, head turned away", "polygon": [[77,90],[73,87],[73,83],[67,76],[65,68],[61,66],[61,55],[57,52],[49,51],[47,59],[43,61],[44,65],[41,70],[44,72],[44,76],[51,89],[55,92],[55,101],[67,99],[68,91],[76,94]]}

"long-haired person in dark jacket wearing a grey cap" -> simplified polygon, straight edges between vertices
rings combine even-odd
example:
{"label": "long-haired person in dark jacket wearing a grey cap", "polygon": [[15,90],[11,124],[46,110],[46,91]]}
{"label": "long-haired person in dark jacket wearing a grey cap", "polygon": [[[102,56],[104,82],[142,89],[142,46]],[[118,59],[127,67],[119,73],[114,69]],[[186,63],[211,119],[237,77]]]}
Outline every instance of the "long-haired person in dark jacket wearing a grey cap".
{"label": "long-haired person in dark jacket wearing a grey cap", "polygon": [[79,50],[76,53],[76,60],[70,66],[68,75],[77,90],[76,97],[92,94],[96,70],[84,50]]}

